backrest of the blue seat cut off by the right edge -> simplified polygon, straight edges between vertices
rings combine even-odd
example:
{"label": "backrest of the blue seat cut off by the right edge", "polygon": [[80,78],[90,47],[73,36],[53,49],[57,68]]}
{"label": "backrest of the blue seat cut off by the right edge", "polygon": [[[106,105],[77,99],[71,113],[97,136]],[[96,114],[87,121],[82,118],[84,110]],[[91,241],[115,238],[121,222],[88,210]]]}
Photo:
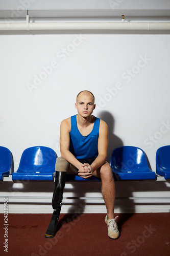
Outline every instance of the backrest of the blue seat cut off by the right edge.
{"label": "backrest of the blue seat cut off by the right edge", "polygon": [[159,147],[156,152],[156,166],[170,168],[170,145]]}

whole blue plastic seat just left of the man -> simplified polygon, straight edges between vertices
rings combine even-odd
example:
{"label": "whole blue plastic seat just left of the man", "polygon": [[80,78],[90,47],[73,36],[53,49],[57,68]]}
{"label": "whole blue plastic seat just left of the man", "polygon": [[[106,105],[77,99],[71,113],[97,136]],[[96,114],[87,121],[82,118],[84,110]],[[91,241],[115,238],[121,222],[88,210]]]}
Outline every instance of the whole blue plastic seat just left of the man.
{"label": "whole blue plastic seat just left of the man", "polygon": [[50,147],[33,146],[23,151],[12,180],[53,181],[57,155]]}

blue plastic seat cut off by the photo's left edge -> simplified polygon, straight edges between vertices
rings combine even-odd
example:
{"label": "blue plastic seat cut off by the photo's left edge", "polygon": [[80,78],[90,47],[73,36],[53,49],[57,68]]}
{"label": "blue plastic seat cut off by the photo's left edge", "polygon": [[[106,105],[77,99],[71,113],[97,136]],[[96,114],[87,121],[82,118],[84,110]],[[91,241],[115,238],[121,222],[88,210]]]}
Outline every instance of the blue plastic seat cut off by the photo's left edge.
{"label": "blue plastic seat cut off by the photo's left edge", "polygon": [[11,152],[7,147],[0,146],[0,180],[10,175]]}

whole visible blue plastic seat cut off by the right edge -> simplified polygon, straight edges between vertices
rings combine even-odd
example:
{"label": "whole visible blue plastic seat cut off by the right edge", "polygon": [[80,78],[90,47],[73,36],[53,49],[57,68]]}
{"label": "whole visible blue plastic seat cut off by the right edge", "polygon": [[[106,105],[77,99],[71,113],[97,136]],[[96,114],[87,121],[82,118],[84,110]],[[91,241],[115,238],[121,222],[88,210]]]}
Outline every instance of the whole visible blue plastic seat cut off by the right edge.
{"label": "whole visible blue plastic seat cut off by the right edge", "polygon": [[159,147],[156,152],[156,173],[170,179],[170,145]]}

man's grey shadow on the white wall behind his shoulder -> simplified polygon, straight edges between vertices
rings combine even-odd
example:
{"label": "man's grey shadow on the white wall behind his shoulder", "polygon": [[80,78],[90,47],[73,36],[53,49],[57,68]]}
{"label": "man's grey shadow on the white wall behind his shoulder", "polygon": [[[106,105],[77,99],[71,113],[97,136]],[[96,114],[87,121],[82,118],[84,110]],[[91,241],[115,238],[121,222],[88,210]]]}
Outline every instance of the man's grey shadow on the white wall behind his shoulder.
{"label": "man's grey shadow on the white wall behind his shoulder", "polygon": [[103,121],[105,121],[109,127],[109,146],[108,146],[107,161],[110,163],[111,154],[114,148],[123,146],[124,144],[123,144],[123,141],[114,134],[115,120],[112,114],[108,111],[100,111],[98,113],[98,117]]}

